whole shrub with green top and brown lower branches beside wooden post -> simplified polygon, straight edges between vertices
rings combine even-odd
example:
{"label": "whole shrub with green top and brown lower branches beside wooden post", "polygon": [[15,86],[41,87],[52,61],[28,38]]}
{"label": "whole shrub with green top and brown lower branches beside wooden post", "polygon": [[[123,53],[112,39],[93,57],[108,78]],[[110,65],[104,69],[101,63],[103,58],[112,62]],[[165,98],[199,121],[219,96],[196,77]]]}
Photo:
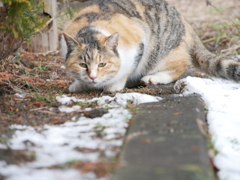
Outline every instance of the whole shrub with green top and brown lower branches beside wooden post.
{"label": "whole shrub with green top and brown lower branches beside wooden post", "polygon": [[0,60],[45,26],[43,0],[0,0]]}

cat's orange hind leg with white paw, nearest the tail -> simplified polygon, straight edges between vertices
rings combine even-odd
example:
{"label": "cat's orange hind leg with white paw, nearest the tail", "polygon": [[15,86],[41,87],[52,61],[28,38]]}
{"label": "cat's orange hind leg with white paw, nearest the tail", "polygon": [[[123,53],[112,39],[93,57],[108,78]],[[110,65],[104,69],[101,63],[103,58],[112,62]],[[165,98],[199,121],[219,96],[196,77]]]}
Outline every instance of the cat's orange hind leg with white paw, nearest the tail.
{"label": "cat's orange hind leg with white paw, nearest the tail", "polygon": [[148,84],[168,84],[177,80],[187,70],[191,57],[186,44],[181,43],[162,59],[156,68],[144,76],[141,81]]}

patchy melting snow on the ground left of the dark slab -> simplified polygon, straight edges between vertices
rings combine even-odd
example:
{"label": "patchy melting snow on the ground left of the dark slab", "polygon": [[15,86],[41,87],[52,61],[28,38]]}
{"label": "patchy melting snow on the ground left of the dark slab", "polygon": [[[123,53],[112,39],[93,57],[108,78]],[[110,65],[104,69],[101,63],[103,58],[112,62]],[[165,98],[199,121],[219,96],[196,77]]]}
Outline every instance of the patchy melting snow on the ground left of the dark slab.
{"label": "patchy melting snow on the ground left of the dark slab", "polygon": [[[56,97],[56,100],[62,104],[59,111],[64,113],[85,111],[79,105],[74,105],[76,102],[97,102],[99,106],[108,106],[108,113],[93,119],[73,117],[61,125],[11,125],[10,128],[16,131],[7,144],[0,143],[0,148],[35,152],[36,160],[20,165],[7,165],[0,161],[0,174],[6,176],[7,180],[100,180],[94,173],[48,168],[76,160],[97,162],[102,156],[115,157],[123,144],[128,121],[132,118],[126,109],[128,103],[131,101],[137,105],[156,102],[161,98],[139,93],[118,93],[114,97],[103,96],[90,100],[63,95]],[[102,137],[98,136],[99,131]],[[86,153],[77,150],[84,148],[95,151]]]}

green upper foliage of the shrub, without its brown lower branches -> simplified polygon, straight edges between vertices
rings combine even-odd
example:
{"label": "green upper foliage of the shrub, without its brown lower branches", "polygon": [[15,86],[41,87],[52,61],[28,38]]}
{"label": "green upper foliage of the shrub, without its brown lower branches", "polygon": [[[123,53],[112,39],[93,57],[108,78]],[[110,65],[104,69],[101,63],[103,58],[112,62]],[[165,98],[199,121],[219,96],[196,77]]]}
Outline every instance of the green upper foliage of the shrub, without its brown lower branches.
{"label": "green upper foliage of the shrub, without its brown lower branches", "polygon": [[43,0],[0,0],[3,4],[0,30],[9,32],[13,38],[28,40],[45,26]]}

